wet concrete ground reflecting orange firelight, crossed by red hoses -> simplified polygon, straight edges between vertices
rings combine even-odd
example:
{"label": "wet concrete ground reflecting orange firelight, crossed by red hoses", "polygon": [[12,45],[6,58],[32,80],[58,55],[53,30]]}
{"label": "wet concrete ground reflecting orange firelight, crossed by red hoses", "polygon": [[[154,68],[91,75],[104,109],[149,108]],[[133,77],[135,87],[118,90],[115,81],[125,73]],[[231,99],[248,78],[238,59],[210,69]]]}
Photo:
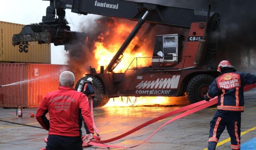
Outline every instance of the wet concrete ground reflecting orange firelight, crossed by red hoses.
{"label": "wet concrete ground reflecting orange firelight, crossed by red hoses", "polygon": [[[245,93],[245,112],[242,113],[241,143],[247,142],[256,150],[256,145],[250,144],[256,137],[256,90]],[[132,128],[167,112],[182,106],[147,106],[147,107],[105,107],[94,109],[96,126],[100,130],[102,140],[118,136]],[[0,120],[40,126],[36,118],[30,118],[29,113],[36,113],[37,108],[23,109],[23,117],[16,117],[16,109],[0,109]],[[216,108],[206,108],[200,112],[186,116],[164,126],[152,138],[138,147],[130,150],[204,150],[208,144],[209,122]],[[130,134],[118,141],[108,144],[117,146],[133,146],[146,139],[154,130],[167,122],[169,118],[160,120]],[[83,128],[84,131],[84,128]],[[0,150],[39,150],[46,146],[44,137],[48,131],[0,122]],[[230,141],[225,130],[219,140],[216,150],[229,150]],[[248,143],[249,142],[249,143]],[[254,147],[255,146],[255,147]],[[246,149],[246,148],[245,148]],[[245,150],[244,149],[244,150]],[[88,147],[84,150],[107,150],[107,148]],[[111,148],[111,150],[117,150]],[[242,149],[243,150],[243,149]]]}

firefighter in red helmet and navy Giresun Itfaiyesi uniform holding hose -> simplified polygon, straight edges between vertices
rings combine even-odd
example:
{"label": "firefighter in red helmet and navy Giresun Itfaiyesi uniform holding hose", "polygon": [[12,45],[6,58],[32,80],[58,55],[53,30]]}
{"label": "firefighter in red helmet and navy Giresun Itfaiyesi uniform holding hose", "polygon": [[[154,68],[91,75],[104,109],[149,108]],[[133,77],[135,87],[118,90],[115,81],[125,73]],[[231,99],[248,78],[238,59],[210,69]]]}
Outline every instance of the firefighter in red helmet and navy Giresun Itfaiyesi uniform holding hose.
{"label": "firefighter in red helmet and navy Giresun Itfaiyesi uniform holding hose", "polygon": [[236,72],[227,60],[220,62],[218,76],[204,96],[206,101],[218,96],[217,112],[210,122],[208,150],[215,150],[220,134],[227,127],[231,138],[231,149],[240,150],[241,112],[244,112],[244,85],[254,84],[256,76]]}

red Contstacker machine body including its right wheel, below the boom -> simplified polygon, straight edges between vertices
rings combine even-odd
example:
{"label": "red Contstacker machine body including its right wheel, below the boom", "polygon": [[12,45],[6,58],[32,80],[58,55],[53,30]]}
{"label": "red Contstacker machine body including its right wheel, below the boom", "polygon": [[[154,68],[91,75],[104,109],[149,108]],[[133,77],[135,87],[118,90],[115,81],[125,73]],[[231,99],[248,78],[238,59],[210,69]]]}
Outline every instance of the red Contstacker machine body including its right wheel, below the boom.
{"label": "red Contstacker machine body including its right wheel, below the boom", "polygon": [[[182,37],[183,46],[178,48],[177,60],[168,61],[156,54],[159,49],[154,50],[152,65],[145,67],[127,68],[124,73],[92,73],[86,74],[86,78],[93,78],[97,82],[95,89],[104,87],[106,97],[119,96],[184,96],[190,92],[191,103],[202,100],[208,91],[208,86],[218,76],[216,69],[208,68],[208,56],[204,53],[197,54],[200,40],[204,36],[206,22],[193,22],[188,35]],[[169,36],[169,35],[164,35]],[[173,36],[173,35],[170,35]],[[179,35],[177,35],[178,38]],[[162,38],[162,36],[159,36]],[[180,39],[181,40],[181,39]],[[178,42],[177,42],[178,43]],[[163,51],[164,52],[164,51]],[[175,57],[175,56],[173,56]],[[194,62],[200,58],[201,64]],[[140,59],[134,58],[131,64],[141,66]],[[205,63],[206,62],[206,63]],[[100,91],[101,92],[101,91]],[[97,95],[97,94],[96,94]]]}

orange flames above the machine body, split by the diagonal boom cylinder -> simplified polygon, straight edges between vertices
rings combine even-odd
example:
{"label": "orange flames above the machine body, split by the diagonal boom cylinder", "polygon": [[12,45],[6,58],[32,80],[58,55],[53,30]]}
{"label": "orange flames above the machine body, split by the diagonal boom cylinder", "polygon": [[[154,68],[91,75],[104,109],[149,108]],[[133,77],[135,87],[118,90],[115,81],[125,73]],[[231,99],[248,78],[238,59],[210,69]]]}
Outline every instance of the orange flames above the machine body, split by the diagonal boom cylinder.
{"label": "orange flames above the machine body, split by the diagonal boom cylinder", "polygon": [[[135,26],[136,22],[132,22],[127,24],[127,22],[123,22],[120,19],[113,19],[113,22],[108,22],[108,30],[101,33],[98,36],[97,42],[94,44],[94,55],[95,58],[98,60],[97,64],[98,67],[96,68],[97,71],[100,70],[100,66],[106,66],[109,64],[111,58],[116,54],[116,52],[121,47],[122,43],[126,39],[126,37],[130,34],[133,27]],[[102,23],[102,22],[98,22]],[[145,39],[142,43],[142,47],[136,51],[132,52],[132,49],[136,44],[139,42],[139,36],[135,36],[129,46],[126,48],[122,61],[116,66],[114,72],[124,72],[127,67],[130,65],[132,60],[136,57],[150,57],[152,55],[152,50],[148,50],[146,46],[150,45],[152,42],[151,40]],[[150,48],[151,49],[151,48]],[[147,51],[148,50],[148,51]],[[138,62],[140,66],[149,66],[150,61],[141,61]]]}

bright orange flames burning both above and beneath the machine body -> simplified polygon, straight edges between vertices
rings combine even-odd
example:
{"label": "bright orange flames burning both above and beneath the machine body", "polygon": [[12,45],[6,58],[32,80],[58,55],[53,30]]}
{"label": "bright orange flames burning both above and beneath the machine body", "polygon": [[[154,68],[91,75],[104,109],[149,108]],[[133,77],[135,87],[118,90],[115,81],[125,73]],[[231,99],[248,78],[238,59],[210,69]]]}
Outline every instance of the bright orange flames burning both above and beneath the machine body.
{"label": "bright orange flames burning both above and beneath the machine body", "polygon": [[[98,22],[101,23],[101,22]],[[100,66],[106,66],[109,64],[110,60],[119,50],[120,46],[126,39],[126,37],[132,31],[132,28],[135,26],[135,22],[127,24],[126,22],[119,22],[111,24],[110,22],[107,24],[108,28],[112,28],[112,32],[106,31],[105,33],[101,33],[98,36],[98,42],[94,44],[94,54],[96,60],[98,60],[98,67],[96,68],[97,72],[100,70]],[[111,39],[105,39],[106,36]],[[107,41],[107,42],[106,42]],[[126,48],[122,61],[116,66],[114,72],[124,72],[134,58],[138,57],[151,57],[153,49],[148,47],[149,42],[154,42],[154,39],[143,39],[143,43],[140,43],[139,50],[133,51],[134,46],[139,42],[139,37],[135,36],[129,46]],[[146,67],[151,64],[150,59],[138,59],[137,65],[138,67]],[[134,61],[129,68],[136,67],[136,61]],[[108,104],[105,106],[142,106],[142,105],[184,105],[188,104],[188,100],[186,97],[130,97],[130,98],[111,98]]]}

